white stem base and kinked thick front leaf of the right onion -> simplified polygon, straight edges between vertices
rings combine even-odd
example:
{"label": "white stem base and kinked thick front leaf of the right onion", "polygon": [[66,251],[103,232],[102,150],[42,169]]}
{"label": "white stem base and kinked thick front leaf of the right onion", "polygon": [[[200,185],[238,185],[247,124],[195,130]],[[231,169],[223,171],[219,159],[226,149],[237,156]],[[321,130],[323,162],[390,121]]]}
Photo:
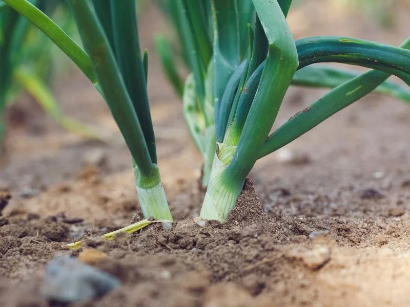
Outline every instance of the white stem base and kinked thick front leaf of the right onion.
{"label": "white stem base and kinked thick front leaf of the right onion", "polygon": [[237,146],[218,144],[200,213],[221,222],[235,206],[298,67],[295,42],[278,3],[253,0],[253,4],[268,40],[266,65]]}

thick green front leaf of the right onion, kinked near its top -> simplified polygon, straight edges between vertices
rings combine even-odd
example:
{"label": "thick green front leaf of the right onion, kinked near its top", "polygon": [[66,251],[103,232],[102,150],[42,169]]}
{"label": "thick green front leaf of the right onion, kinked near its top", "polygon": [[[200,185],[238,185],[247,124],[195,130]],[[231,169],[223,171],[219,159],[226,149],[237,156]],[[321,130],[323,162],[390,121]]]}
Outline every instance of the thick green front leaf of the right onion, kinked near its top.
{"label": "thick green front leaf of the right onion, kinked near its top", "polygon": [[[229,179],[244,180],[252,169],[275,121],[298,67],[295,42],[276,1],[253,0],[269,41],[268,57],[232,162]],[[272,82],[275,80],[275,82]]]}

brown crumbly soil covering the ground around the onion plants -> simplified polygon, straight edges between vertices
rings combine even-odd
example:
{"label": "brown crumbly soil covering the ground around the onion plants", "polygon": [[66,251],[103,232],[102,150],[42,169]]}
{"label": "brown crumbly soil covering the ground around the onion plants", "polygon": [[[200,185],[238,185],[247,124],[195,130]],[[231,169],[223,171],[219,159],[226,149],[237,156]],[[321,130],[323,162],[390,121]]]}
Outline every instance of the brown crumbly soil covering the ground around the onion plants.
{"label": "brown crumbly soil covering the ground around the onion plants", "polygon": [[[397,2],[393,29],[332,3],[295,8],[289,17],[295,37],[350,35],[399,45],[408,35],[405,1]],[[152,224],[113,241],[95,238],[126,226],[139,206],[115,123],[73,69],[54,85],[61,107],[110,141],[67,133],[27,96],[9,109],[0,169],[0,305],[48,306],[39,288],[45,265],[60,254],[121,281],[79,306],[409,305],[408,105],[370,95],[344,109],[258,161],[227,223],[203,226],[195,218],[203,196],[200,156],[152,42],[153,33],[171,35],[169,27],[153,6],[140,23],[141,45],[152,54],[159,167],[177,222],[170,230]],[[291,89],[275,126],[324,92]],[[69,250],[66,243],[78,239],[83,248]]]}

